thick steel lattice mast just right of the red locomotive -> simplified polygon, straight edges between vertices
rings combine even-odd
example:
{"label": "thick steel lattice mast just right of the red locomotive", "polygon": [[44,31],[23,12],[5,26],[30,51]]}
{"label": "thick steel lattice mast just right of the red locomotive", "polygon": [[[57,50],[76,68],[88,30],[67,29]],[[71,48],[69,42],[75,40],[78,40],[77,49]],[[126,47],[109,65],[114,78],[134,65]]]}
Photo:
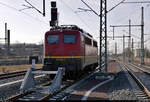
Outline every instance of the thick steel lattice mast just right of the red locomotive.
{"label": "thick steel lattice mast just right of the red locomotive", "polygon": [[107,0],[100,1],[100,51],[99,51],[99,70],[104,65],[107,72]]}

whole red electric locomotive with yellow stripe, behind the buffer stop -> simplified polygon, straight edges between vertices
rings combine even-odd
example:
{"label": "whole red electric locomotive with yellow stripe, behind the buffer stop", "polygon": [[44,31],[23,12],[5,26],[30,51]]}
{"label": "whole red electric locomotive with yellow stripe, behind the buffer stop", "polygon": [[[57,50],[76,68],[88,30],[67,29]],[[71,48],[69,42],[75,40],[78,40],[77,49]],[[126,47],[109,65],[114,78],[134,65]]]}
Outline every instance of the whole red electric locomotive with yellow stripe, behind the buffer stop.
{"label": "whole red electric locomotive with yellow stripe, behind the buffer stop", "polygon": [[75,78],[98,65],[96,40],[75,25],[62,25],[46,32],[44,55],[43,70],[57,71],[63,67],[67,78]]}

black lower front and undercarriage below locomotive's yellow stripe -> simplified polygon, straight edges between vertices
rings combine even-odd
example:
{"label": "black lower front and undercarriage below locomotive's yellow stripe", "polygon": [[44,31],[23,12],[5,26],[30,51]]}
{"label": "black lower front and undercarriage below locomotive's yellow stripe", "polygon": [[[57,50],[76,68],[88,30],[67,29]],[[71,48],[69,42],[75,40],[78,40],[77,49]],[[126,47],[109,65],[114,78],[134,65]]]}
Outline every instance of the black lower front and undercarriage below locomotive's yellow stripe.
{"label": "black lower front and undercarriage below locomotive's yellow stripe", "polygon": [[57,71],[58,67],[65,68],[67,79],[76,79],[81,74],[82,59],[78,58],[45,58],[44,71]]}

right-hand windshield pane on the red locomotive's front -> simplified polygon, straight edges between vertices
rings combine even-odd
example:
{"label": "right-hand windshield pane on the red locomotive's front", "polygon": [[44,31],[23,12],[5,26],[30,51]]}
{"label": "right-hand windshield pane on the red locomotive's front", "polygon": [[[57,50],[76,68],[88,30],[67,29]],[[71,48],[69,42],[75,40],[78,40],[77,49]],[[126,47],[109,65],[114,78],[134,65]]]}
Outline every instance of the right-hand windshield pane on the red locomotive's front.
{"label": "right-hand windshield pane on the red locomotive's front", "polygon": [[70,35],[70,34],[65,34],[64,35],[64,43],[75,43],[76,42],[76,35]]}

